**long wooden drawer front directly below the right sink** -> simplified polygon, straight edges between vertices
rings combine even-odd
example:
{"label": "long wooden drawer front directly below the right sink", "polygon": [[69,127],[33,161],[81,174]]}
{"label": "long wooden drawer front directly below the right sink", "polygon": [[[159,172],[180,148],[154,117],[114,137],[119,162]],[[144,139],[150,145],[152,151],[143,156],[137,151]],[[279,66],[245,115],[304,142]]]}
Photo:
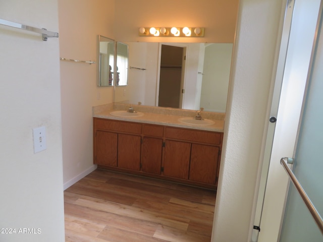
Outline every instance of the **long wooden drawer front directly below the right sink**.
{"label": "long wooden drawer front directly below the right sink", "polygon": [[188,130],[180,128],[165,128],[165,137],[172,139],[180,139],[192,142],[201,142],[214,145],[220,145],[222,143],[222,133],[200,131],[200,130]]}

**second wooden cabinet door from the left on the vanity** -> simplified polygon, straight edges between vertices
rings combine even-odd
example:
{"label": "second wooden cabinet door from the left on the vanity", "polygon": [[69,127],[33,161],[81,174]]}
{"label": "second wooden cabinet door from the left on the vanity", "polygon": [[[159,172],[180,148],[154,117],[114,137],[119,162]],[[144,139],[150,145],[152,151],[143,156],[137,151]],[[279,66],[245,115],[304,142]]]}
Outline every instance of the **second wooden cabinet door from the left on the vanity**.
{"label": "second wooden cabinet door from the left on the vanity", "polygon": [[139,170],[141,137],[118,134],[118,167]]}

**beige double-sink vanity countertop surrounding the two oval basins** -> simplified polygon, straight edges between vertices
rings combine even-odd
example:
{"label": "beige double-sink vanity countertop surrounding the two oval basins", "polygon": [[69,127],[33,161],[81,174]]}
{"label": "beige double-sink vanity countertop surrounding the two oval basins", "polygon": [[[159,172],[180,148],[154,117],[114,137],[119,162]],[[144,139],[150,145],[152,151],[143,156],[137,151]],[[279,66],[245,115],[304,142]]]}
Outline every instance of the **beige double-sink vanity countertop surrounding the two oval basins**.
{"label": "beige double-sink vanity countertop surrounding the two oval basins", "polygon": [[[184,124],[180,122],[178,119],[183,116],[179,116],[179,115],[143,112],[144,115],[142,116],[123,117],[123,116],[114,116],[110,114],[110,112],[115,110],[116,109],[113,109],[113,108],[100,109],[98,111],[93,112],[93,117],[123,120],[123,121],[143,123],[143,124],[163,125],[163,126],[172,126],[172,127],[180,127],[180,128],[195,129],[195,130],[222,132],[222,133],[224,130],[224,119],[207,118],[214,122],[213,125],[189,125],[189,124]],[[203,113],[201,113],[201,115],[203,116]]]}

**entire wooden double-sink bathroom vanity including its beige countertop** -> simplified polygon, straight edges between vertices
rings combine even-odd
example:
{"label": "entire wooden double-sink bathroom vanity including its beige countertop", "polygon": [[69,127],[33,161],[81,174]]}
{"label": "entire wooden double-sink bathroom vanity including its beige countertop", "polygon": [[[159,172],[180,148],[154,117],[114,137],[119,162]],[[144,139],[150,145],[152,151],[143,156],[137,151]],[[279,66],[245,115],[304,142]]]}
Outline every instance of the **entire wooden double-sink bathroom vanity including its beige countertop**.
{"label": "entire wooden double-sink bathroom vanity including its beige countertop", "polygon": [[94,163],[99,168],[216,189],[224,116],[212,119],[212,125],[188,125],[179,121],[183,113],[160,110],[144,110],[140,116],[115,116],[111,107],[93,111]]}

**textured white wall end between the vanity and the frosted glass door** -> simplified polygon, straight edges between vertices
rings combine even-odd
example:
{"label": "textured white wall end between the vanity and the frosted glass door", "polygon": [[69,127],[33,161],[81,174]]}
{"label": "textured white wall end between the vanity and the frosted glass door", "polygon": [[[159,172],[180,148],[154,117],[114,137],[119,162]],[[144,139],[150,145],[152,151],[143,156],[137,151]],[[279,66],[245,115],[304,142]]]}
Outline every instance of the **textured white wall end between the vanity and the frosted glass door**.
{"label": "textured white wall end between the vanity and the frosted glass door", "polygon": [[250,241],[281,0],[241,0],[211,241]]}

